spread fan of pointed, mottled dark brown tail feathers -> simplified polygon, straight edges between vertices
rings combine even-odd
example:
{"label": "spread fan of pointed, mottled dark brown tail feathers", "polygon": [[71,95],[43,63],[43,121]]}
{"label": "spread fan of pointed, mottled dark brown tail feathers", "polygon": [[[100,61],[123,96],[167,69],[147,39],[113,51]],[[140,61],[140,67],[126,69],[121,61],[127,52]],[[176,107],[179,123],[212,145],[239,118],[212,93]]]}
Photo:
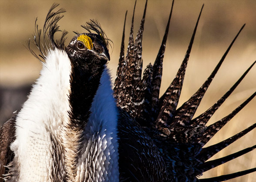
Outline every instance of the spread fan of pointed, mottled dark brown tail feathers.
{"label": "spread fan of pointed, mottled dark brown tail feathers", "polygon": [[192,33],[192,38],[190,40],[187,52],[185,53],[185,58],[182,65],[162,97],[159,97],[159,90],[162,80],[163,57],[172,15],[173,2],[171,13],[165,29],[165,34],[155,62],[153,65],[151,63],[147,65],[145,71],[141,75],[141,41],[143,25],[145,22],[146,7],[147,2],[145,4],[141,26],[135,42],[133,39],[134,8],[126,57],[124,56],[124,25],[117,77],[114,85],[115,97],[117,99],[118,106],[127,111],[132,117],[135,117],[141,127],[147,131],[148,135],[152,137],[153,141],[155,141],[155,144],[158,146],[162,153],[162,157],[165,160],[169,181],[220,182],[255,172],[256,168],[253,168],[228,175],[212,177],[209,179],[197,179],[197,177],[202,175],[203,172],[255,149],[256,146],[254,145],[228,156],[205,162],[226,146],[229,146],[231,143],[253,130],[256,127],[256,124],[253,124],[251,127],[248,127],[247,129],[222,142],[208,147],[203,146],[205,146],[212,136],[214,136],[229,120],[231,120],[232,117],[243,109],[243,107],[245,107],[246,104],[253,99],[253,97],[255,97],[256,92],[253,93],[246,101],[244,101],[243,104],[239,105],[235,110],[233,110],[231,114],[227,115],[216,123],[213,123],[212,125],[206,126],[206,123],[209,121],[212,115],[235,90],[256,61],[252,63],[252,65],[244,72],[238,81],[233,84],[229,91],[227,91],[226,94],[224,94],[215,104],[213,104],[212,107],[198,117],[192,119],[202,100],[202,97],[207,91],[207,88],[211,84],[214,76],[217,74],[217,71],[222,65],[222,62],[226,58],[226,55],[245,25],[242,26],[235,38],[232,40],[230,46],[220,59],[219,63],[216,65],[211,75],[209,75],[209,78],[206,79],[198,91],[196,91],[188,101],[182,104],[181,107],[177,108],[182,90],[182,83],[185,77],[185,70],[203,6],[195,24],[195,29]]}

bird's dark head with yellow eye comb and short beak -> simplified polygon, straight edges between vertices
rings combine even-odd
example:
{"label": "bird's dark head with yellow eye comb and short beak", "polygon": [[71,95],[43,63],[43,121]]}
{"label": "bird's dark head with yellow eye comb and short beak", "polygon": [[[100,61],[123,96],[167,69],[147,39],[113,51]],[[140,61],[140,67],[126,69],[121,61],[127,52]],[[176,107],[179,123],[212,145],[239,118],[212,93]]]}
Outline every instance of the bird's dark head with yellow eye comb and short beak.
{"label": "bird's dark head with yellow eye comb and short beak", "polygon": [[110,60],[103,37],[94,33],[77,34],[66,48],[71,64],[84,71],[96,71]]}

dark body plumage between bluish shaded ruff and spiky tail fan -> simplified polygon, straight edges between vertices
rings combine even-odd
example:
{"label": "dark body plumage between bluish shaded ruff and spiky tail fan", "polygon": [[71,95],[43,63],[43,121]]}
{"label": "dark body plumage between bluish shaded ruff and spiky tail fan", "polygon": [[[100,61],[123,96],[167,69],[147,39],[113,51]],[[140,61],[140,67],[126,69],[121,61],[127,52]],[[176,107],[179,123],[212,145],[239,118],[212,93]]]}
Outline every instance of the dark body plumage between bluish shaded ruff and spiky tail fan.
{"label": "dark body plumage between bluish shaded ruff and spiky tail fan", "polygon": [[152,138],[124,110],[118,109],[121,182],[167,182],[165,161]]}

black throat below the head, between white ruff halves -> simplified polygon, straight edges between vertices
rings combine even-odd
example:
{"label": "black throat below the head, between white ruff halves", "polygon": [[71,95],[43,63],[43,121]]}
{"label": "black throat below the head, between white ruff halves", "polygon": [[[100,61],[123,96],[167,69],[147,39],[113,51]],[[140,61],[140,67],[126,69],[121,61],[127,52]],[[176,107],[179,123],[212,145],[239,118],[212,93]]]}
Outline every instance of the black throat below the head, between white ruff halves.
{"label": "black throat below the head, between white ruff halves", "polygon": [[71,106],[71,125],[84,128],[89,115],[90,108],[96,94],[104,66],[99,68],[86,68],[72,64],[71,92],[69,102]]}

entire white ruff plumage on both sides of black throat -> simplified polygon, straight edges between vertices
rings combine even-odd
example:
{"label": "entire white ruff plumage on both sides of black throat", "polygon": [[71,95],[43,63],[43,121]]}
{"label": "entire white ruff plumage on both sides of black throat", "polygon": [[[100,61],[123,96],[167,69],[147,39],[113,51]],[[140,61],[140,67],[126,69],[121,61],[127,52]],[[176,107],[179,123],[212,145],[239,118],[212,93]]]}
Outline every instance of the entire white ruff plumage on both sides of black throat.
{"label": "entire white ruff plumage on both sides of black throat", "polygon": [[[77,158],[76,182],[116,182],[118,170],[117,108],[111,89],[108,68],[104,68],[100,85],[91,106],[91,116],[85,127],[80,155],[71,152],[72,145],[65,126],[70,123],[71,62],[66,52],[55,49],[47,55],[40,78],[34,84],[28,100],[17,115],[16,140],[11,149],[20,166],[19,182],[52,181],[54,163],[52,138],[63,148],[59,159],[59,175],[69,171],[72,158]],[[68,152],[70,151],[70,152]],[[33,167],[32,167],[33,166]],[[94,175],[94,176],[92,176]],[[72,178],[72,176],[71,176]]]}

